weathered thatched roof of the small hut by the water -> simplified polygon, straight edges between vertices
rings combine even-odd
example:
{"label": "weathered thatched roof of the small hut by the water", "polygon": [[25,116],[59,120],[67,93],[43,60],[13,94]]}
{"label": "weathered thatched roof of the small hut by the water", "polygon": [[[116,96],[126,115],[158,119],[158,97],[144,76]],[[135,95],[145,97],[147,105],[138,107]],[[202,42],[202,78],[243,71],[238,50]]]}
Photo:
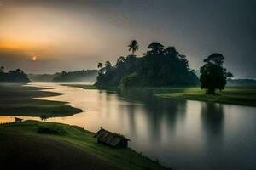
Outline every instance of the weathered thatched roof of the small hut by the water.
{"label": "weathered thatched roof of the small hut by the water", "polygon": [[105,130],[104,128],[101,127],[101,129],[94,135],[95,138],[100,140],[101,142],[105,144],[109,144],[111,146],[116,146],[119,144],[119,142],[122,139],[125,139],[129,141],[130,139],[125,138],[125,136],[117,133],[111,133],[108,130]]}

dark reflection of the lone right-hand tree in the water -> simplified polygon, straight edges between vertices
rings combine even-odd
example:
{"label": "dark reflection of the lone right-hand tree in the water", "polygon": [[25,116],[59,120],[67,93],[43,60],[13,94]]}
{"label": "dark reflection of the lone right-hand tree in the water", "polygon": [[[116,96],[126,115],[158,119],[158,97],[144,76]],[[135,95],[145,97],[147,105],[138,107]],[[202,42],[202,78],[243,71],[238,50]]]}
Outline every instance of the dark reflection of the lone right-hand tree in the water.
{"label": "dark reflection of the lone right-hand tree in the water", "polygon": [[209,135],[220,135],[223,131],[223,105],[216,103],[201,103],[201,121],[204,130]]}

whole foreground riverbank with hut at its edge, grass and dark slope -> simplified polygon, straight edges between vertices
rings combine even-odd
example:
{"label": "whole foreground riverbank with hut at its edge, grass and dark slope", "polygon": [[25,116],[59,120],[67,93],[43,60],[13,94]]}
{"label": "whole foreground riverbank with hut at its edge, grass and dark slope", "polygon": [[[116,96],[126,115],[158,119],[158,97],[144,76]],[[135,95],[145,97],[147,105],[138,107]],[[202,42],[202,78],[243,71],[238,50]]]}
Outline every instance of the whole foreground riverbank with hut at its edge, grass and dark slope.
{"label": "whole foreground riverbank with hut at its edge, grass and dark slope", "polygon": [[[55,134],[37,133],[38,127],[54,129]],[[0,126],[0,134],[0,159],[4,160],[1,167],[166,169],[129,148],[113,149],[97,144],[94,133],[67,124],[36,121],[5,123]]]}

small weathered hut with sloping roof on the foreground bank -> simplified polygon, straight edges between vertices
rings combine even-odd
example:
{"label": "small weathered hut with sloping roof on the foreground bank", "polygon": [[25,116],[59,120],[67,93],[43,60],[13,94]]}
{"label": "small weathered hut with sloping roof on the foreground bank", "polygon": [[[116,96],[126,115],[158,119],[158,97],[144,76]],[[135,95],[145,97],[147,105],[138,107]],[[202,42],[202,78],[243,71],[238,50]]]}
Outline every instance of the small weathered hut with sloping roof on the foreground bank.
{"label": "small weathered hut with sloping roof on the foreground bank", "polygon": [[102,127],[94,137],[98,140],[99,144],[107,144],[113,148],[127,148],[128,141],[130,141],[130,139],[126,139],[125,136],[117,133],[111,133]]}

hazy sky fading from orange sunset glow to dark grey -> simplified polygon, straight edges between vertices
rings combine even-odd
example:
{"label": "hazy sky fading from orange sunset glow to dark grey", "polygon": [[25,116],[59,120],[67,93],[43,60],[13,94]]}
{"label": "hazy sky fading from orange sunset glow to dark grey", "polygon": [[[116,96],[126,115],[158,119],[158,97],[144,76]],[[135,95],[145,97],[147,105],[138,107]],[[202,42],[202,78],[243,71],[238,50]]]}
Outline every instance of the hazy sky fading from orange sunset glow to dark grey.
{"label": "hazy sky fading from orange sunset glow to dark grey", "polygon": [[212,53],[236,78],[256,78],[256,0],[0,0],[0,65],[27,73],[95,69],[175,46],[198,70]]}

